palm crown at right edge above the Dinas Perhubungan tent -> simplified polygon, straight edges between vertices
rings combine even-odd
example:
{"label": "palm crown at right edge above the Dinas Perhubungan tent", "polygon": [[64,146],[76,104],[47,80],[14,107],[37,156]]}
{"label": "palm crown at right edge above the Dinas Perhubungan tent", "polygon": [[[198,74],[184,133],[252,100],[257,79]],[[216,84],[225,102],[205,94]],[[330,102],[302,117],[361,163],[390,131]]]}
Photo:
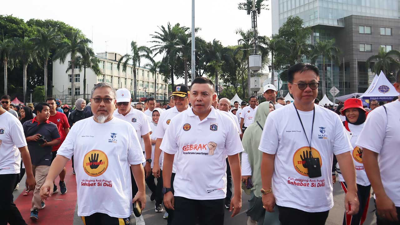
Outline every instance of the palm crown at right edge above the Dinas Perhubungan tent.
{"label": "palm crown at right edge above the Dinas Perhubungan tent", "polygon": [[370,56],[367,59],[365,66],[369,69],[371,61],[376,61],[372,67],[372,71],[375,72],[375,74],[379,74],[380,70],[382,70],[385,72],[385,75],[388,76],[388,71],[390,70],[391,65],[400,68],[400,63],[392,56],[400,58],[400,52],[398,50],[390,50],[386,52],[385,48],[381,47],[379,48],[377,55]]}

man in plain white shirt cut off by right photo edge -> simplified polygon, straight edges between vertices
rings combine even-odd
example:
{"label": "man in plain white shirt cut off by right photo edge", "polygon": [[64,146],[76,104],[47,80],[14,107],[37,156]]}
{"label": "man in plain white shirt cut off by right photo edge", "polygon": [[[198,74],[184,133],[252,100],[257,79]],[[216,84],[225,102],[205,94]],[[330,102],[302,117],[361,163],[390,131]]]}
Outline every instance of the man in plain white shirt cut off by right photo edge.
{"label": "man in plain white shirt cut off by right photo edge", "polygon": [[[400,74],[394,87],[400,93]],[[399,112],[399,100],[373,110],[356,142],[375,192],[377,225],[400,224]]]}

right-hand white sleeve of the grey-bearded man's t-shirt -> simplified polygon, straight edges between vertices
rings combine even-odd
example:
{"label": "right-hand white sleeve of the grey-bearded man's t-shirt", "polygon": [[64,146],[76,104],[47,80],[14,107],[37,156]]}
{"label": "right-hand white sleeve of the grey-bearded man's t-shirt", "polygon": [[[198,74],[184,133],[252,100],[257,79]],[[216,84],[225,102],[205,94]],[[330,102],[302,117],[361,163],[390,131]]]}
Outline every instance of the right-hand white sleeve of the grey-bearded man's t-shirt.
{"label": "right-hand white sleeve of the grey-bearded man's t-shirt", "polygon": [[129,144],[128,144],[128,163],[130,165],[138,165],[144,163],[142,146],[140,146],[138,135],[132,126],[129,127]]}

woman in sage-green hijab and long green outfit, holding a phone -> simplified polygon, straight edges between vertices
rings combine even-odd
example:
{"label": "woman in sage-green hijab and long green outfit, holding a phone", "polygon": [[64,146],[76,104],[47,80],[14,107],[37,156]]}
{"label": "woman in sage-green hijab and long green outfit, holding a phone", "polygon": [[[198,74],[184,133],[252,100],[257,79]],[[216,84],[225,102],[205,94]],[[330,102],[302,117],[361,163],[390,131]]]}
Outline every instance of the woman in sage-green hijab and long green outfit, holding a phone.
{"label": "woman in sage-green hijab and long green outfit, holding a phone", "polygon": [[[270,108],[270,104],[272,104]],[[275,206],[274,213],[267,212],[262,206],[261,199],[261,161],[262,152],[258,150],[260,145],[261,133],[270,111],[275,109],[274,103],[262,102],[258,105],[254,123],[252,123],[243,135],[242,144],[242,182],[248,185],[249,179],[253,183],[251,188],[250,205],[246,214],[248,215],[247,224],[258,225],[279,225],[278,208]]]}

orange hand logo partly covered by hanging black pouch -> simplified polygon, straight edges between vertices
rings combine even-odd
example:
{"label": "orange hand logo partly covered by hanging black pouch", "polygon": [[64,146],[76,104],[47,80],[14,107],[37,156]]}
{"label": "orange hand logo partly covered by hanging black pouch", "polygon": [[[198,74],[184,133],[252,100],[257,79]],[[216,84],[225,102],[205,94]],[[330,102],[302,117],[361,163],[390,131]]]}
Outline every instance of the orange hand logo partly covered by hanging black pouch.
{"label": "orange hand logo partly covered by hanging black pouch", "polygon": [[293,155],[294,169],[296,169],[297,173],[300,173],[301,175],[306,176],[306,177],[308,177],[308,167],[307,167],[306,159],[309,159],[309,158],[319,158],[320,165],[322,167],[321,155],[314,148],[311,148],[311,151],[310,151],[310,147],[307,147],[307,146],[301,147]]}

